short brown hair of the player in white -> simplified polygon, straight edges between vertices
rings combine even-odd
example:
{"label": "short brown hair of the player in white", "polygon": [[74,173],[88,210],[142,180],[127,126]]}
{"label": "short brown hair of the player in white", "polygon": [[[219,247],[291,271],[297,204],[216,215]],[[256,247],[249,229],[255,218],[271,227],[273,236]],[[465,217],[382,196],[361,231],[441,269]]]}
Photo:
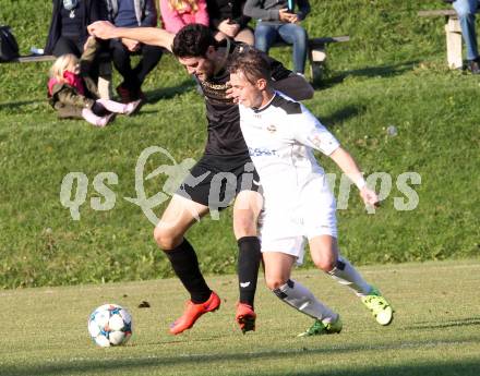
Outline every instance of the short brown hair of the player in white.
{"label": "short brown hair of the player in white", "polygon": [[244,48],[233,53],[228,63],[230,73],[243,73],[247,81],[255,84],[257,80],[271,81],[272,70],[265,54],[254,48]]}

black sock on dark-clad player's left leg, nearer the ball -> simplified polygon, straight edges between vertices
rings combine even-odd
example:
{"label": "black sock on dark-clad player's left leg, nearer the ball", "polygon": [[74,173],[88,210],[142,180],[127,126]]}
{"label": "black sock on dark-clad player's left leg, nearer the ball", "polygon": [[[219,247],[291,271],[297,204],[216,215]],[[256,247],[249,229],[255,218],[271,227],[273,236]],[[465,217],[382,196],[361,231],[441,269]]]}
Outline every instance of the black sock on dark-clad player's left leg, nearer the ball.
{"label": "black sock on dark-clad player's left leg, nearer the ball", "polygon": [[175,274],[190,292],[193,303],[204,303],[212,294],[212,290],[205,282],[199,267],[195,251],[187,239],[171,251],[164,251],[170,259]]}

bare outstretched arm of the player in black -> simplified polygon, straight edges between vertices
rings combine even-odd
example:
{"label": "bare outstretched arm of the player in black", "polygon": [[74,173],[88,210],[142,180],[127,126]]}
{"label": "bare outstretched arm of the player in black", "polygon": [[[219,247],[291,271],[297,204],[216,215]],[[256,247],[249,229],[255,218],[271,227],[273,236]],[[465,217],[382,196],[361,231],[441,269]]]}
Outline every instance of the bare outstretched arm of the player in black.
{"label": "bare outstretched arm of the player in black", "polygon": [[175,37],[175,34],[158,27],[117,27],[108,21],[97,21],[88,25],[88,33],[100,39],[128,38],[169,50]]}

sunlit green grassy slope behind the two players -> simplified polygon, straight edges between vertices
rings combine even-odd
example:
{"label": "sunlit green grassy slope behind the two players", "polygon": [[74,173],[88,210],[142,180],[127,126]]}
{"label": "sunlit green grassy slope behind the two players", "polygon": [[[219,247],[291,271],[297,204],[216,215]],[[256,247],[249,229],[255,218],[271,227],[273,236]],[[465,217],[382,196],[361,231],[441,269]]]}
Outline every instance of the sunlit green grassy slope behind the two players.
{"label": "sunlit green grassy slope behind the two players", "polygon": [[[15,5],[13,5],[15,4]],[[32,5],[33,4],[33,5]],[[310,35],[351,36],[329,49],[329,73],[308,102],[368,172],[396,177],[417,171],[420,205],[397,211],[396,187],[375,215],[356,195],[339,210],[340,244],[357,264],[476,257],[480,109],[478,77],[444,69],[442,20],[416,16],[437,1],[312,1]],[[38,16],[25,17],[34,9]],[[0,0],[0,21],[14,27],[23,52],[41,46],[49,2]],[[273,53],[289,61],[288,51]],[[166,277],[170,268],[152,240],[152,225],[137,206],[134,168],[148,146],[168,149],[177,161],[199,158],[205,141],[202,98],[171,57],[145,83],[151,102],[132,119],[94,130],[60,122],[45,101],[48,64],[0,65],[0,286],[67,284]],[[385,129],[395,125],[398,136]],[[322,158],[328,171],[337,171]],[[153,158],[147,172],[168,160]],[[59,201],[71,171],[91,182],[81,220]],[[115,209],[94,211],[94,177],[113,171]],[[149,195],[163,186],[145,182]],[[157,208],[157,213],[161,208]],[[229,211],[206,219],[189,239],[208,272],[235,270]],[[208,234],[208,235],[205,235]]]}

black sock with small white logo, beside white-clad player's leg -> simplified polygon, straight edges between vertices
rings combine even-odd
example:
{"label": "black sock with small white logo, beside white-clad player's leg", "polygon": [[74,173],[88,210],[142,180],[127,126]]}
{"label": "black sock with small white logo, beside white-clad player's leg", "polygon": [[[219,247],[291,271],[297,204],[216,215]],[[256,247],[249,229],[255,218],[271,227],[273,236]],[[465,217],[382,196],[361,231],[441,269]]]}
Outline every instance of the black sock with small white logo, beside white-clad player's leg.
{"label": "black sock with small white logo, beside white-clad player's leg", "polygon": [[237,270],[240,289],[240,303],[247,303],[253,307],[260,260],[262,259],[260,240],[256,236],[240,238],[238,240],[238,247]]}

